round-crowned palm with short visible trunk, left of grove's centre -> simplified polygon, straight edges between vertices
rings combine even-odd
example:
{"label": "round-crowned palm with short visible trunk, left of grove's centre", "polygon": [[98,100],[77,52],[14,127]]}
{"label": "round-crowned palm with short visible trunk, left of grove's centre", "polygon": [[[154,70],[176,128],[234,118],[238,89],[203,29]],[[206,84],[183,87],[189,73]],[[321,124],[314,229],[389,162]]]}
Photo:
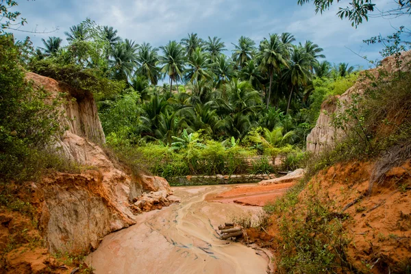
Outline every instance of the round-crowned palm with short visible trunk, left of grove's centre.
{"label": "round-crowned palm with short visible trunk, left of grove's centre", "polygon": [[[170,92],[173,89],[173,81],[178,83],[184,71],[184,48],[176,41],[170,41],[166,46],[160,47],[164,56],[160,56],[158,64],[162,64],[162,73],[170,77]],[[178,90],[178,84],[177,84]]]}

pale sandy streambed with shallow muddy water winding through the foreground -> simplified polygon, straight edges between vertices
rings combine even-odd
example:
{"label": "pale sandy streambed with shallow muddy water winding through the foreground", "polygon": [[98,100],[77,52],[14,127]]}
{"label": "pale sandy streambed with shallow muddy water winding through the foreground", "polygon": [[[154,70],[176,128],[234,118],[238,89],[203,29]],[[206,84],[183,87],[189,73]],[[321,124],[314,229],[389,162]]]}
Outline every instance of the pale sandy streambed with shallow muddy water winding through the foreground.
{"label": "pale sandy streambed with shallow muddy water winding through the foreground", "polygon": [[138,216],[136,225],[106,236],[86,262],[95,273],[266,273],[269,258],[236,242],[223,241],[217,226],[260,208],[204,201],[230,186],[173,188],[182,198]]}

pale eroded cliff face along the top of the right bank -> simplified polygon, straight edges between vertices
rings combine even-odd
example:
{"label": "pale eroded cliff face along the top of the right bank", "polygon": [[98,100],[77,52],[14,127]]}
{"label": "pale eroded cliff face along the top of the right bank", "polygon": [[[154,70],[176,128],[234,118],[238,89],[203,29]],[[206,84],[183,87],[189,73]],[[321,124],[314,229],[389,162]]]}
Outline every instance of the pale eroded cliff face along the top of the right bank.
{"label": "pale eroded cliff face along the top of the right bank", "polygon": [[[384,69],[387,73],[393,73],[400,69],[401,71],[410,70],[411,51],[402,53],[400,67],[397,66],[395,58],[393,56],[385,58],[382,61],[382,67],[378,69],[371,69],[367,71],[375,77],[379,77],[379,69]],[[349,88],[343,95],[336,96],[328,99],[321,105],[321,113],[319,119],[316,121],[316,126],[312,129],[311,133],[307,136],[307,151],[319,153],[323,151],[329,145],[334,145],[343,136],[342,130],[336,130],[331,125],[332,114],[336,112],[343,112],[345,105],[351,103],[351,95],[363,94],[370,81],[362,79],[358,81],[351,88]]]}

